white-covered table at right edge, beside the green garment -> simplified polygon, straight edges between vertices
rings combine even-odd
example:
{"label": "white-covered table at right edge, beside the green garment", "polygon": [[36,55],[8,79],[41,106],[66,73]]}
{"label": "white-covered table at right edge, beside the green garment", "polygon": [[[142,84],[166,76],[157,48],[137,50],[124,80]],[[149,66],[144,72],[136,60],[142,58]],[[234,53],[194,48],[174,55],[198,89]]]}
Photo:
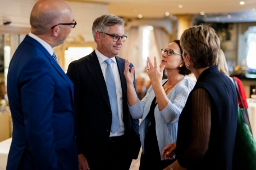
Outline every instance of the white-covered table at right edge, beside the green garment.
{"label": "white-covered table at right edge, beside the green garment", "polygon": [[253,138],[256,140],[256,99],[248,98],[248,115],[252,126]]}

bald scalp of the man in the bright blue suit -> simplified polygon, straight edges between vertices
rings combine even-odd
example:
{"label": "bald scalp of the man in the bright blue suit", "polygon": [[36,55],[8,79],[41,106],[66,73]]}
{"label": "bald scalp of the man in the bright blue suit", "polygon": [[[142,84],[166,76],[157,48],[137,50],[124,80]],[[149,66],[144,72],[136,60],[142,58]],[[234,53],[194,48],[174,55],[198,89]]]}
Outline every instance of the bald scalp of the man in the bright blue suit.
{"label": "bald scalp of the man in the bright blue suit", "polygon": [[70,6],[63,0],[39,0],[31,11],[31,32],[43,35],[51,30],[53,25],[61,23],[65,15],[70,14],[72,14]]}

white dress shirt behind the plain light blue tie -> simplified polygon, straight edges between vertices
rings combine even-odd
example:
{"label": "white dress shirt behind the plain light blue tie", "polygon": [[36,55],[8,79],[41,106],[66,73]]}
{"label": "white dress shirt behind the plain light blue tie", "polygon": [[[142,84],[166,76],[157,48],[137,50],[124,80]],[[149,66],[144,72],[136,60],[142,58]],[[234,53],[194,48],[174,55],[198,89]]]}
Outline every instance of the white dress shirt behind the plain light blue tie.
{"label": "white dress shirt behind the plain light blue tie", "polygon": [[[95,49],[95,53],[99,59],[100,68],[102,69],[102,73],[104,76],[104,79],[106,81],[106,69],[107,69],[107,63],[104,61],[107,58],[107,56],[104,56],[103,54],[99,53],[97,49]],[[121,80],[120,75],[118,72],[118,67],[116,63],[116,58],[111,58],[111,68],[114,74],[115,83],[116,83],[116,95],[117,95],[117,104],[118,104],[118,116],[119,116],[119,129],[116,131],[115,134],[112,132],[110,133],[110,136],[121,136],[125,134],[125,127],[124,127],[124,121],[123,121],[123,110],[122,110],[122,87],[121,87]]]}

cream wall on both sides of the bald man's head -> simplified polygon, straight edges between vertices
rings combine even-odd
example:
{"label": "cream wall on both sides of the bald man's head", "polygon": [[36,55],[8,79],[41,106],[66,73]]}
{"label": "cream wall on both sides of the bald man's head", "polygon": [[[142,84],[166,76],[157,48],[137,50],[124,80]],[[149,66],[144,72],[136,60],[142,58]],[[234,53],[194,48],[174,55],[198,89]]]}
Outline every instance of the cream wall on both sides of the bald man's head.
{"label": "cream wall on both sides of the bald man's head", "polygon": [[[0,25],[2,18],[10,18],[11,25],[17,27],[30,27],[30,12],[36,3],[36,0],[0,0]],[[71,2],[70,5],[74,18],[77,22],[66,41],[94,41],[92,36],[92,25],[95,18],[108,12],[107,4]]]}

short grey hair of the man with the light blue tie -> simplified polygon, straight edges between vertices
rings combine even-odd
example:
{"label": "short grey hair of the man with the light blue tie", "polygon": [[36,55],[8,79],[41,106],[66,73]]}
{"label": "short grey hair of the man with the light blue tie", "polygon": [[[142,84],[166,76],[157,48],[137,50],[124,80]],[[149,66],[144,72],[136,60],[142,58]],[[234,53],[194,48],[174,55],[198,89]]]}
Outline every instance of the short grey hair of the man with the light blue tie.
{"label": "short grey hair of the man with the light blue tie", "polygon": [[99,31],[105,33],[109,30],[109,27],[113,25],[125,26],[125,21],[122,18],[117,17],[113,14],[105,14],[96,18],[96,20],[93,22],[92,27],[94,41],[97,43],[95,39],[95,32]]}

